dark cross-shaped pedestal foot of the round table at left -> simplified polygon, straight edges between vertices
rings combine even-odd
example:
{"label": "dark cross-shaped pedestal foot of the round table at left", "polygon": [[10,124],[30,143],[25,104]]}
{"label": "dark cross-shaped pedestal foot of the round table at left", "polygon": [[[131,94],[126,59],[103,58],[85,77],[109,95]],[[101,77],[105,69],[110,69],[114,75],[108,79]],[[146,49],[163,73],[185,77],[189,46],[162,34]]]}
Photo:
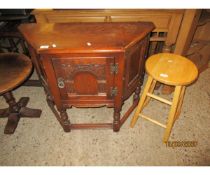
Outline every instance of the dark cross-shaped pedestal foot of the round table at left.
{"label": "dark cross-shaped pedestal foot of the round table at left", "polygon": [[40,117],[41,110],[26,107],[29,101],[28,97],[22,97],[18,102],[15,101],[12,92],[6,92],[3,94],[3,97],[9,105],[9,108],[0,111],[1,117],[8,117],[8,121],[4,129],[5,134],[13,134],[15,132],[20,117]]}

